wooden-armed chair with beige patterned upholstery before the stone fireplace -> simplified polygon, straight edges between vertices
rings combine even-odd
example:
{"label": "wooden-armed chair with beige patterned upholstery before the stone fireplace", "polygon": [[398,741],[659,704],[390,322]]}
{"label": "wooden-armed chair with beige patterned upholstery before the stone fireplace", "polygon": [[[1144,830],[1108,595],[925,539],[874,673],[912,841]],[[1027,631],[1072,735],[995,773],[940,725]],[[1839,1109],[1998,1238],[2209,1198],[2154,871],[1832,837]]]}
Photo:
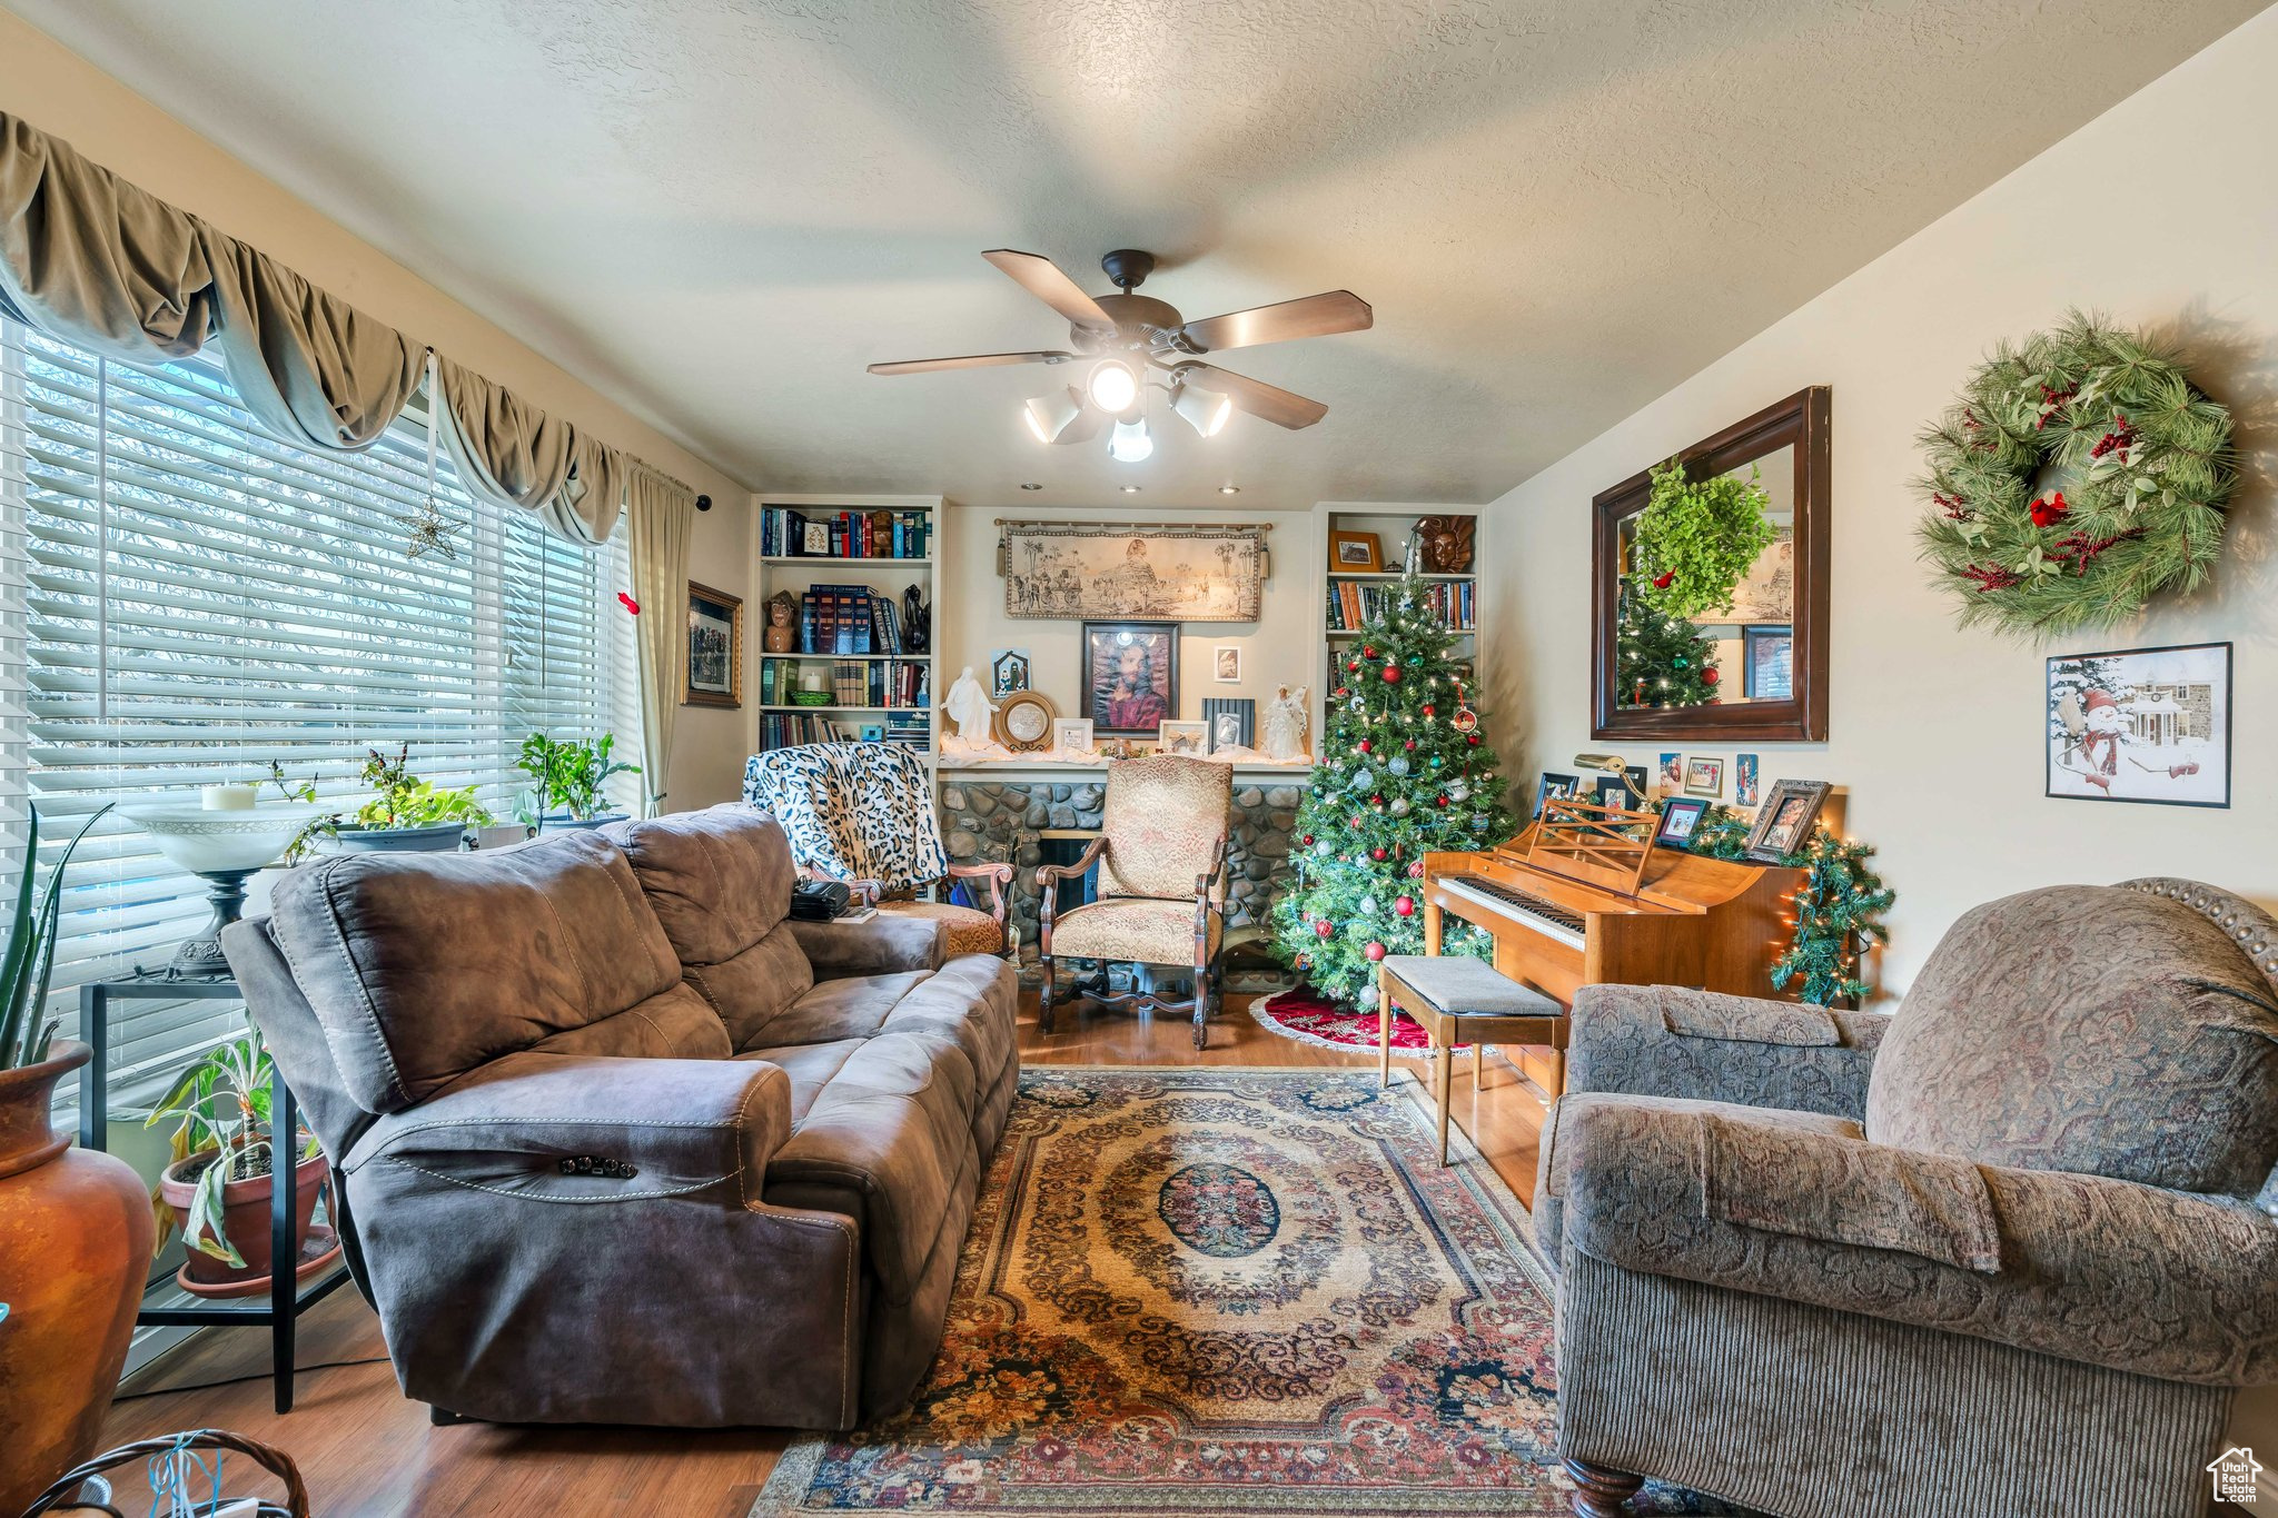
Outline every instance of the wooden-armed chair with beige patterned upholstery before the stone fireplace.
{"label": "wooden-armed chair with beige patterned upholstery before the stone fireplace", "polygon": [[[1226,833],[1235,772],[1196,758],[1121,760],[1107,767],[1100,835],[1068,865],[1036,869],[1043,992],[1036,1022],[1052,1031],[1059,1004],[1055,958],[1098,960],[1087,995],[1103,1006],[1194,1013],[1194,1047],[1210,1042],[1210,1013],[1223,990]],[[1057,910],[1059,883],[1100,867],[1098,899]],[[1107,965],[1194,965],[1194,999],[1153,992],[1109,995]]]}

